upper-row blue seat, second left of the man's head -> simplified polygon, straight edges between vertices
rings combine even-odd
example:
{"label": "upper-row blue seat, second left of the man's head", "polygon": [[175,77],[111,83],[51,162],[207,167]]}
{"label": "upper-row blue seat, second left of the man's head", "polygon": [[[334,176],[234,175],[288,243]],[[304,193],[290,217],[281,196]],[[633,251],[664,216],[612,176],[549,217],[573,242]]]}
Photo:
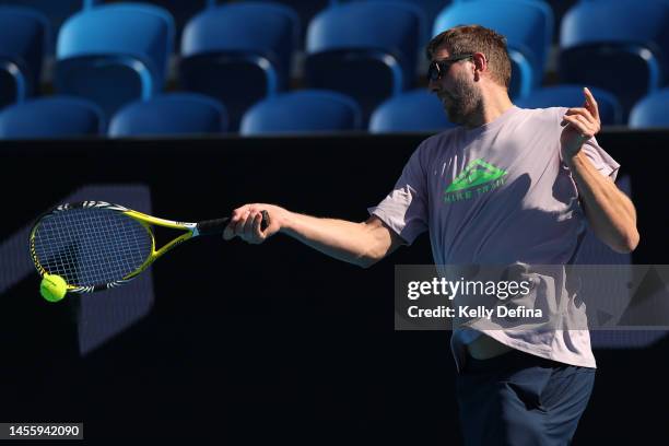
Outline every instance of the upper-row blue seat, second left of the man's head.
{"label": "upper-row blue seat, second left of the man's head", "polygon": [[180,84],[225,104],[236,130],[249,106],[287,86],[297,33],[297,15],[280,4],[209,9],[184,30]]}

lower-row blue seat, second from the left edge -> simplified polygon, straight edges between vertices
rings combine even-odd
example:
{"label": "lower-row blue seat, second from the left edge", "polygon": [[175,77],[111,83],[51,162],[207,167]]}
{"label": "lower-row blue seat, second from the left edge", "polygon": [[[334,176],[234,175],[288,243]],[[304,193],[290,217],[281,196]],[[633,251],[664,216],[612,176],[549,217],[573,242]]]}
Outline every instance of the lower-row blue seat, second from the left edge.
{"label": "lower-row blue seat, second from the left edge", "polygon": [[172,93],[121,108],[109,122],[109,137],[221,133],[227,113],[218,101],[196,93]]}

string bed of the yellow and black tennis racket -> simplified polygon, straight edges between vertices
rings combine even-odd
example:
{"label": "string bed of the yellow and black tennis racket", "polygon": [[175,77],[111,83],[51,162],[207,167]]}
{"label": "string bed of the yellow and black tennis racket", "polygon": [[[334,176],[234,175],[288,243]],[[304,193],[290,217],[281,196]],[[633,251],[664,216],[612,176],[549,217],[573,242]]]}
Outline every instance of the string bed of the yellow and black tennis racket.
{"label": "string bed of the yellow and black tennis racket", "polygon": [[71,209],[45,218],[35,254],[68,284],[94,286],[136,271],[151,255],[152,235],[138,221],[108,209]]}

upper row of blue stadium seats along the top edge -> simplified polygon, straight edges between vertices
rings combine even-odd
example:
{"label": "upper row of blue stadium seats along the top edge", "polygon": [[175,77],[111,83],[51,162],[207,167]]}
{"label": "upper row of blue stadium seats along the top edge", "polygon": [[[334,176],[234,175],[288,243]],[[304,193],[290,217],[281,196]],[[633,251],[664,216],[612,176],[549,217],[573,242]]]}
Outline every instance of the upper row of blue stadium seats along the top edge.
{"label": "upper row of blue stadium seats along the top edge", "polygon": [[[383,101],[414,87],[424,42],[421,11],[411,3],[352,1],[317,14],[307,30],[305,84],[354,97],[364,124]],[[0,25],[5,23],[0,54],[9,55],[0,58],[0,104],[21,102],[38,82],[44,20],[26,9],[0,13]],[[553,27],[544,1],[457,1],[438,13],[432,34],[459,23],[481,23],[507,36],[512,97],[520,101],[539,89]],[[561,79],[610,92],[622,106],[615,122],[622,124],[639,98],[669,80],[668,25],[665,0],[583,0],[562,21]],[[297,34],[297,15],[285,5],[209,4],[184,30],[179,85],[225,104],[236,130],[253,104],[287,90]],[[140,3],[86,9],[59,32],[55,90],[95,102],[109,118],[129,102],[165,91],[174,40],[174,20],[165,9]]]}

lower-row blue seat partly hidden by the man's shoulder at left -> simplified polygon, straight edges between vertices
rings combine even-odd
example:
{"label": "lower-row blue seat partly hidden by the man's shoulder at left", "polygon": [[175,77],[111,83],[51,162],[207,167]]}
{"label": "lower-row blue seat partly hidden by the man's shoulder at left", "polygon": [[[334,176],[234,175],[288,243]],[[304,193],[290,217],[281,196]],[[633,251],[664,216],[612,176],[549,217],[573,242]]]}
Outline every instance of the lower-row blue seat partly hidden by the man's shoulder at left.
{"label": "lower-row blue seat partly hidden by the man's shoulder at left", "polygon": [[369,132],[436,132],[455,127],[446,117],[438,97],[426,89],[391,97],[378,106],[369,119]]}

